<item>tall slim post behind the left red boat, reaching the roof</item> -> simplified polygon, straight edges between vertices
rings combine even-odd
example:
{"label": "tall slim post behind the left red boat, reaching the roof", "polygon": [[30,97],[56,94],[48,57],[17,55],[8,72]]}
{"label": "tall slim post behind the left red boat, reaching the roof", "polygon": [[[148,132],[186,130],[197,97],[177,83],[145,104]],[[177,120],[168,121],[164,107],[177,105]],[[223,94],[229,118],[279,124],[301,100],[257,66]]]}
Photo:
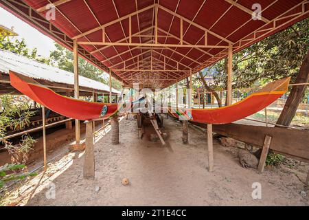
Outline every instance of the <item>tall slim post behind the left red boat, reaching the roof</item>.
{"label": "tall slim post behind the left red boat, reaching the roof", "polygon": [[[73,41],[73,69],[74,69],[74,98],[80,98],[78,83],[78,43]],[[75,138],[76,144],[80,143],[80,120],[75,120]]]}

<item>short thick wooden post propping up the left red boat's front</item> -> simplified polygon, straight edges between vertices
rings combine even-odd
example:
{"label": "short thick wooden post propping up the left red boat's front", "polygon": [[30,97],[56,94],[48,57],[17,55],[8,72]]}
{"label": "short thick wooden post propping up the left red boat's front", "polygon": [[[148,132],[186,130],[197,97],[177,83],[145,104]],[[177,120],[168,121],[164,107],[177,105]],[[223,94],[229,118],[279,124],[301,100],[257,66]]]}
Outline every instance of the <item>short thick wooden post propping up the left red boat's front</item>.
{"label": "short thick wooden post propping up the left red boat's front", "polygon": [[93,146],[93,125],[86,121],[86,149],[84,151],[84,179],[95,177],[95,157]]}

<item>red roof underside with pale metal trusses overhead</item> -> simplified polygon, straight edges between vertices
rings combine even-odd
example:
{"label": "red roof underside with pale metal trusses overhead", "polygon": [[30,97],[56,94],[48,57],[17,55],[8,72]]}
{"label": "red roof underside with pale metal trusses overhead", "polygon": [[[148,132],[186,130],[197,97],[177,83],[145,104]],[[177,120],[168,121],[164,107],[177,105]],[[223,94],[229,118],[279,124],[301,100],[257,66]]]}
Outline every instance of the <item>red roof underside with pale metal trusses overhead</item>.
{"label": "red roof underside with pale metal trusses overhead", "polygon": [[[54,3],[56,19],[47,21]],[[252,19],[253,4],[262,17]],[[302,0],[5,0],[4,8],[132,87],[168,87],[308,17]],[[50,8],[50,7],[49,7]],[[253,9],[252,9],[253,8]]]}

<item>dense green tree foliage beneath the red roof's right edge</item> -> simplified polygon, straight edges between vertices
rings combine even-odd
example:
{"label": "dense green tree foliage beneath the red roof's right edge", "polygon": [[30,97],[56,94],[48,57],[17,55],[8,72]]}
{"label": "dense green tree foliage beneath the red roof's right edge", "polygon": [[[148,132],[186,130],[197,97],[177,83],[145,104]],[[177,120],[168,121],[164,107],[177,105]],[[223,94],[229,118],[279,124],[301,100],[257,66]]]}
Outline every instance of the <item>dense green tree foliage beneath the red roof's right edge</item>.
{"label": "dense green tree foliage beneath the red roof's right edge", "polygon": [[[264,85],[270,80],[295,78],[309,47],[309,19],[233,54],[233,88]],[[213,76],[212,89],[227,85],[226,60],[212,65],[205,72]]]}

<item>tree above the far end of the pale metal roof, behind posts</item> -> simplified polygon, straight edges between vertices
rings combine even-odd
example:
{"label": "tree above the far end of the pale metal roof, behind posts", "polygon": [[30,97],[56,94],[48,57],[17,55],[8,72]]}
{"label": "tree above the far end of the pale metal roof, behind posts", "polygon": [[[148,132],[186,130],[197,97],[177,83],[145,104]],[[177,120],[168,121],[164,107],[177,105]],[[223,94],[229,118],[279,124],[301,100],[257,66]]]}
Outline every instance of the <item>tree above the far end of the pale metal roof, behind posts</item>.
{"label": "tree above the far end of the pale metal roof, behind posts", "polygon": [[[55,43],[56,50],[51,52],[49,58],[52,60],[52,64],[56,65],[60,69],[64,69],[68,72],[73,72],[73,53],[62,47],[58,43]],[[83,58],[78,58],[78,73],[80,76],[91,78],[106,85],[109,85],[109,76],[101,69],[98,69],[91,63],[85,61]],[[122,85],[118,80],[112,78],[112,85],[115,89],[121,89]]]}

